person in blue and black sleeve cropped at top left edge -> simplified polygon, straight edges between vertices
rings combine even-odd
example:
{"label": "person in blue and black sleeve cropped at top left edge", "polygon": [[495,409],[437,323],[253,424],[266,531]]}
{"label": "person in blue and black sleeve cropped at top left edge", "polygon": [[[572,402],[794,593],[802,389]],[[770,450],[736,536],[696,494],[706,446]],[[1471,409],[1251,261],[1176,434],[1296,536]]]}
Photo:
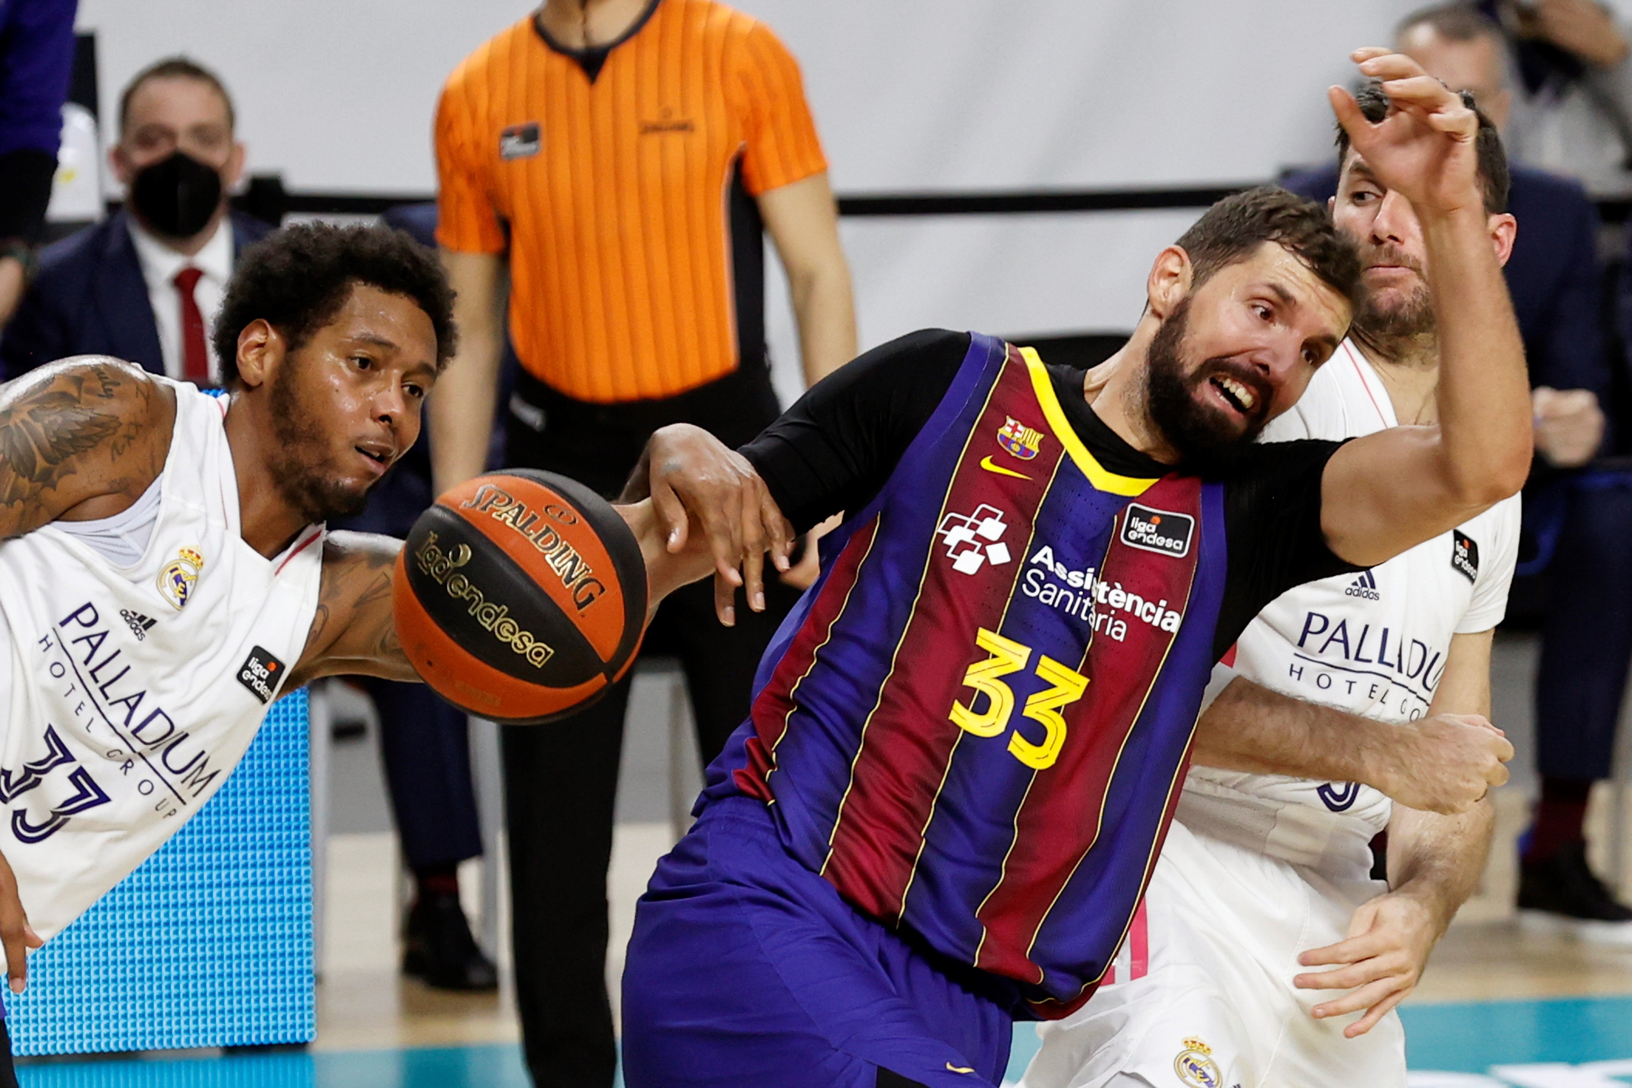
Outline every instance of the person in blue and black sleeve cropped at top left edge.
{"label": "person in blue and black sleeve cropped at top left edge", "polygon": [[0,2],[0,328],[34,268],[73,75],[78,0]]}

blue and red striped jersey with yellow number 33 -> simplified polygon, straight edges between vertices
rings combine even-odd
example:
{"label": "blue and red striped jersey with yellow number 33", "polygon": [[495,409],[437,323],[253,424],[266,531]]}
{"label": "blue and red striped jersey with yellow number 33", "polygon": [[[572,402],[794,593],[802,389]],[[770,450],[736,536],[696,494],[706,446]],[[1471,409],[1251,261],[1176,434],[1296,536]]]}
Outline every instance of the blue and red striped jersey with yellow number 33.
{"label": "blue and red striped jersey with yellow number 33", "polygon": [[858,910],[1062,1016],[1155,865],[1224,582],[1222,484],[1106,471],[1035,352],[974,336],[823,540],[703,804],[765,801]]}

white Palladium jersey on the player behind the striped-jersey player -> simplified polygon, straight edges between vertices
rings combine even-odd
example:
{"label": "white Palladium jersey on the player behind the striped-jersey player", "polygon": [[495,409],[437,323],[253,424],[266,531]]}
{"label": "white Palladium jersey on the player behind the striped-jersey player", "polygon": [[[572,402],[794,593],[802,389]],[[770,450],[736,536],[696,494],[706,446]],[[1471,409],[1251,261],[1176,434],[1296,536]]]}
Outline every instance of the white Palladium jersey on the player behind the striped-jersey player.
{"label": "white Palladium jersey on the player behind the striped-jersey player", "polygon": [[[1353,344],[1315,372],[1309,390],[1263,440],[1346,439],[1397,424],[1377,372]],[[1506,612],[1518,553],[1519,498],[1359,574],[1281,594],[1213,672],[1381,721],[1428,713],[1451,636],[1485,631]],[[1309,781],[1195,767],[1177,819],[1271,856],[1353,876],[1390,801],[1358,783]]]}

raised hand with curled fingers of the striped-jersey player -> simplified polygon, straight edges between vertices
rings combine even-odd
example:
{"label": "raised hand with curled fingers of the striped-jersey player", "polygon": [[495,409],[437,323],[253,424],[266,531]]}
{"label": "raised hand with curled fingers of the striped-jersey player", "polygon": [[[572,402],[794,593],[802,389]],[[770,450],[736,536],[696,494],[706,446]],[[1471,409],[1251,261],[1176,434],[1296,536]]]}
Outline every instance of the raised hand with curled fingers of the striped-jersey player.
{"label": "raised hand with curled fingers of the striped-jersey player", "polygon": [[1368,121],[1342,86],[1327,91],[1338,124],[1377,179],[1397,189],[1418,215],[1477,210],[1479,116],[1444,83],[1404,54],[1369,46],[1350,57],[1363,75],[1379,80],[1389,96],[1382,121]]}

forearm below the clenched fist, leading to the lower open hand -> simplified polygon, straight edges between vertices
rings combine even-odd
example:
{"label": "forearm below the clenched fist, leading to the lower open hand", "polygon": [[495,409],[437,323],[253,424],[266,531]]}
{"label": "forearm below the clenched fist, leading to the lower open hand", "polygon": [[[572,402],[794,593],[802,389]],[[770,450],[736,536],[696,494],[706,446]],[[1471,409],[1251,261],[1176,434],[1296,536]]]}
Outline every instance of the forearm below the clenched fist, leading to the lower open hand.
{"label": "forearm below the clenched fist, leading to the lower open hand", "polygon": [[1495,825],[1488,799],[1459,816],[1395,804],[1389,820],[1389,887],[1421,900],[1443,933],[1479,887]]}

